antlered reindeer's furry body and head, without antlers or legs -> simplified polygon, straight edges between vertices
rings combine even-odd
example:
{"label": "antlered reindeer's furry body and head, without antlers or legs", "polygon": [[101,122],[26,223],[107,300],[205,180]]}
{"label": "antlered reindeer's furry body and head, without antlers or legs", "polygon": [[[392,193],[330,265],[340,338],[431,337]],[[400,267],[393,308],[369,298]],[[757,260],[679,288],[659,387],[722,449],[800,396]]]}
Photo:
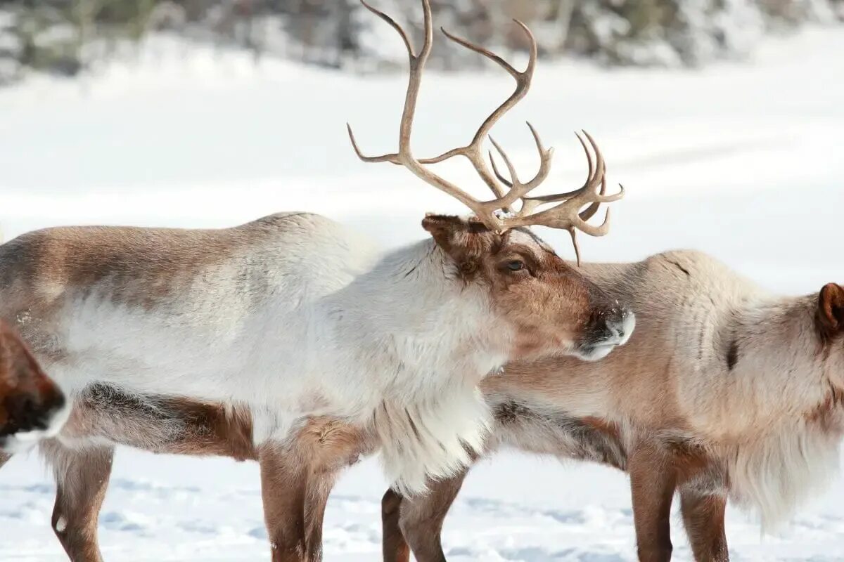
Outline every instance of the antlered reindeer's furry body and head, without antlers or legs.
{"label": "antlered reindeer's furry body and head, without antlers or legs", "polygon": [[306,417],[344,420],[376,436],[399,489],[419,491],[481,447],[488,372],[547,353],[598,358],[632,329],[527,230],[423,226],[433,239],[388,254],[303,213],[213,231],[29,233],[0,247],[0,317],[71,397],[106,384],[237,404],[257,446]]}

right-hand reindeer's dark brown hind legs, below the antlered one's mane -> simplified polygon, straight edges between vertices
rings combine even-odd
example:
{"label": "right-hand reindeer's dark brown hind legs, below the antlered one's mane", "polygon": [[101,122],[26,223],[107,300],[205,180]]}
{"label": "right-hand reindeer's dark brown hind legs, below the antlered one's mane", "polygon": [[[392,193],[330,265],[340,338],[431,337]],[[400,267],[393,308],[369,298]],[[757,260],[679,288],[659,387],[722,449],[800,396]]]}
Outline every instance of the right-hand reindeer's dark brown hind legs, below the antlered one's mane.
{"label": "right-hand reindeer's dark brown hind legs, below the antlered one's mane", "polygon": [[[401,535],[407,539],[418,562],[446,562],[446,554],[442,551],[441,542],[442,522],[446,519],[449,508],[457,498],[457,493],[463,486],[463,480],[466,479],[467,474],[468,469],[450,479],[432,482],[428,493],[425,495],[400,498],[398,524]],[[395,530],[387,533],[386,522],[390,517],[387,517],[387,514],[383,511],[381,517],[382,521],[385,522],[385,552],[387,538],[392,536],[392,545],[398,548],[398,554],[401,554],[402,545],[395,538]]]}

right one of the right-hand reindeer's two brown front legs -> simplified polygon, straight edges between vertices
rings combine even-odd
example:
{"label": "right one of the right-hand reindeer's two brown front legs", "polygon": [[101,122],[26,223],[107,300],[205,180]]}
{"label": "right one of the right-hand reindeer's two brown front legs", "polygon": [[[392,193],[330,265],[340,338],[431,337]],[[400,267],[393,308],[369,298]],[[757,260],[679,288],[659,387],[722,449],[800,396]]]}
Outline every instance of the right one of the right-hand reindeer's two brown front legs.
{"label": "right one of the right-hand reindeer's two brown front legs", "polygon": [[680,511],[695,562],[729,562],[724,530],[726,509],[727,498],[723,495],[680,489]]}

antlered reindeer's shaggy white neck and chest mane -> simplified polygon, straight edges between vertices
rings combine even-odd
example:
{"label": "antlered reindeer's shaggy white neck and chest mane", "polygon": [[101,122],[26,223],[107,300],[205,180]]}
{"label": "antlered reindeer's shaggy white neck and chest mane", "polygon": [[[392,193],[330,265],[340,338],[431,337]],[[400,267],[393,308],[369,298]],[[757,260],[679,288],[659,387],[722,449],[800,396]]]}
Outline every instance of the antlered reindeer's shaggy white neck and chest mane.
{"label": "antlered reindeer's shaggy white neck and chest mane", "polygon": [[[388,254],[326,304],[359,367],[360,412],[381,446],[387,476],[402,490],[425,490],[480,452],[490,413],[477,388],[506,361],[510,329],[479,282],[465,282],[432,240]],[[348,367],[346,367],[348,368]],[[448,455],[443,455],[446,449]]]}

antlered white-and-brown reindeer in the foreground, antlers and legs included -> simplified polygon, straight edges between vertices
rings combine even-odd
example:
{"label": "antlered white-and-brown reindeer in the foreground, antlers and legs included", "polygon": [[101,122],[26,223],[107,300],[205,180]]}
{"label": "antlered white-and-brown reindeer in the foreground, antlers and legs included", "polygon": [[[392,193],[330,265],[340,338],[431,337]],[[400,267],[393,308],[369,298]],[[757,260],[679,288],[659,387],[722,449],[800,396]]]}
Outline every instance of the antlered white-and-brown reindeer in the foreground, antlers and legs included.
{"label": "antlered white-and-brown reindeer in the foreground, antlers and legs included", "polygon": [[[432,42],[430,6],[424,0],[419,54],[398,24],[367,8],[402,36],[410,78],[398,153],[364,156],[349,128],[354,151],[365,162],[403,166],[473,217],[426,216],[430,238],[388,254],[306,213],[221,230],[62,227],[0,247],[0,317],[23,318],[20,331],[71,399],[109,388],[141,403],[167,395],[224,404],[233,423],[250,420],[273,560],[318,558],[319,542],[306,534],[309,506],[327,496],[329,475],[360,454],[380,452],[397,490],[424,490],[483,448],[490,411],[477,386],[487,373],[547,354],[602,359],[635,324],[628,308],[528,229],[563,228],[573,241],[576,230],[608,232],[609,215],[598,226],[587,221],[623,189],[606,194],[592,137],[594,163],[581,139],[587,181],[558,195],[530,195],[551,162],[533,127],[533,179],[520,180],[495,143],[511,179],[481,158],[491,127],[527,94],[537,58],[529,30],[520,24],[532,44],[523,72],[448,35],[497,62],[517,86],[467,146],[418,159],[410,138]],[[455,156],[469,159],[494,199],[479,201],[426,167]],[[520,201],[518,211],[502,212]],[[315,441],[325,445],[318,458],[309,454]],[[103,470],[111,443],[64,434],[44,450],[57,476],[53,521],[62,544],[73,559],[100,559],[79,546],[95,527],[59,522],[89,510],[78,504],[75,467]]]}

